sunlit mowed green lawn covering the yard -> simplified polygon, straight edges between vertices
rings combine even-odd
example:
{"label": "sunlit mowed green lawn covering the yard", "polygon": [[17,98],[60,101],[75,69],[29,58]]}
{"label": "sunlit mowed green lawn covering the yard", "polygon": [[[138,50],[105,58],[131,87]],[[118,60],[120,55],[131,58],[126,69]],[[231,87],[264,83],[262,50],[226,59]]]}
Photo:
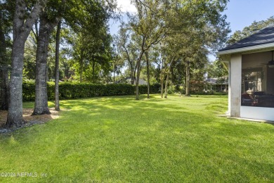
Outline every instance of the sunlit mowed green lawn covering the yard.
{"label": "sunlit mowed green lawn covering the yard", "polygon": [[218,117],[227,96],[60,104],[60,118],[0,134],[0,172],[37,173],[0,182],[274,182],[274,126]]}

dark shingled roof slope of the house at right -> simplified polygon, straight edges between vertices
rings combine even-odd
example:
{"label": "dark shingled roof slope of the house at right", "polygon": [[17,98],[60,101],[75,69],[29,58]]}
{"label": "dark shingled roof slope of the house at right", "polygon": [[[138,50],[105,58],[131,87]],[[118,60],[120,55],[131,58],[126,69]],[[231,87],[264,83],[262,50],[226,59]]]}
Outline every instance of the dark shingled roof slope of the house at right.
{"label": "dark shingled roof slope of the house at right", "polygon": [[231,44],[230,46],[226,46],[226,48],[221,49],[219,51],[226,51],[230,49],[240,49],[248,46],[257,46],[260,44],[268,44],[274,43],[274,25],[266,27],[258,32],[241,39],[239,42],[235,44]]}

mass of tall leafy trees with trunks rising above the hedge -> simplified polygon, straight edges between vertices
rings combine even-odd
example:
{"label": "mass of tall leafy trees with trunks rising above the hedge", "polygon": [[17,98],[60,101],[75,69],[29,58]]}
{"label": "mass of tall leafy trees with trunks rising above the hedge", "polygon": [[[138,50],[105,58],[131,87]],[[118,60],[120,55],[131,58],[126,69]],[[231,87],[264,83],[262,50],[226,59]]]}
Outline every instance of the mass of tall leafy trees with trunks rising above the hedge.
{"label": "mass of tall leafy trees with trunks rising above the hedge", "polygon": [[[127,13],[115,36],[108,28],[108,20],[119,15],[115,0],[3,2],[5,43],[13,30],[10,92],[20,101],[9,101],[10,127],[23,123],[22,80],[36,82],[34,114],[48,111],[46,82],[51,80],[130,82],[136,84],[138,99],[143,79],[148,98],[151,82],[162,83],[162,93],[165,85],[167,96],[168,86],[184,85],[188,91],[191,78],[203,80],[207,54],[223,46],[230,32],[222,14],[227,0],[133,0],[137,12]],[[53,72],[59,67],[60,75]]]}

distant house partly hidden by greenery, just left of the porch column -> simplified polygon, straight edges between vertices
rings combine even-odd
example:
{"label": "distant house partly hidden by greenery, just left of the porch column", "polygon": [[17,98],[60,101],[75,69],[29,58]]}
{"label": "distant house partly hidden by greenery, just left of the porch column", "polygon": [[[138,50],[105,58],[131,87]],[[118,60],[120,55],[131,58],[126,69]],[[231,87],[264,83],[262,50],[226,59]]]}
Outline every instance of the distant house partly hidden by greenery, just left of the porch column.
{"label": "distant house partly hidden by greenery, just left of the porch column", "polygon": [[207,90],[214,90],[215,92],[228,92],[228,81],[222,78],[208,78],[205,80],[209,87]]}

